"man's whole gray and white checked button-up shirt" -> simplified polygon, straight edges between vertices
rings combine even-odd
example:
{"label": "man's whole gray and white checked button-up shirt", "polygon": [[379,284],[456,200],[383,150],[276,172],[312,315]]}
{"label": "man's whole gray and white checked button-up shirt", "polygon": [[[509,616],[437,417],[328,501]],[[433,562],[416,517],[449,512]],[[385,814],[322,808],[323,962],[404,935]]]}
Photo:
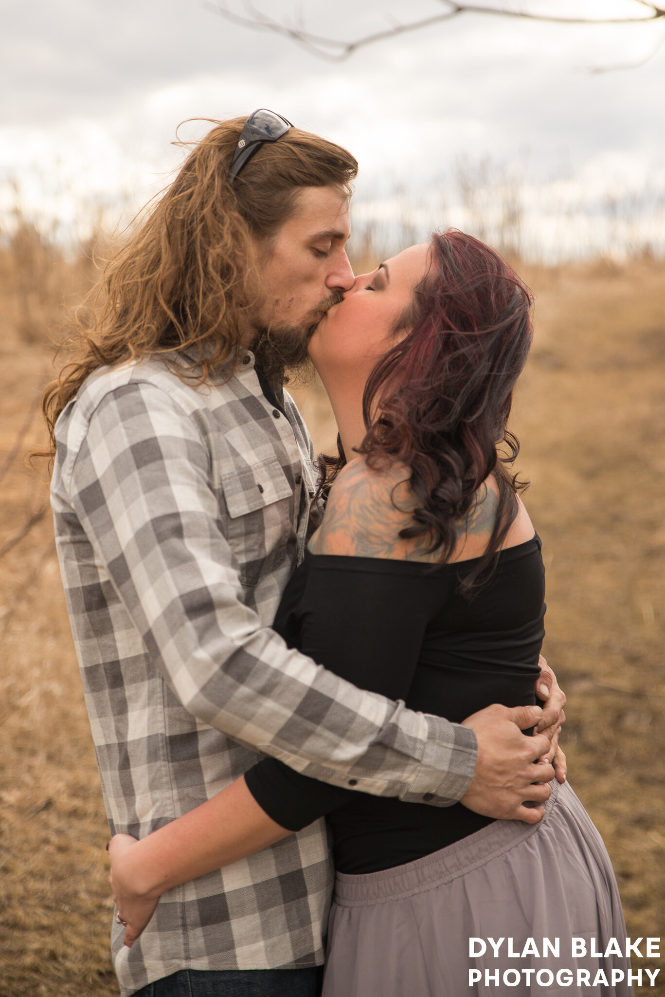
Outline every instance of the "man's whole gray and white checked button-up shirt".
{"label": "man's whole gray and white checked button-up shirt", "polygon": [[[468,728],[361,692],[268,629],[302,556],[312,450],[253,356],[192,387],[161,360],[93,375],[56,429],[58,554],[112,832],[143,836],[223,789],[256,752],[337,786],[447,806],[472,779]],[[166,893],[125,995],[178,969],[323,961],[323,821]]]}

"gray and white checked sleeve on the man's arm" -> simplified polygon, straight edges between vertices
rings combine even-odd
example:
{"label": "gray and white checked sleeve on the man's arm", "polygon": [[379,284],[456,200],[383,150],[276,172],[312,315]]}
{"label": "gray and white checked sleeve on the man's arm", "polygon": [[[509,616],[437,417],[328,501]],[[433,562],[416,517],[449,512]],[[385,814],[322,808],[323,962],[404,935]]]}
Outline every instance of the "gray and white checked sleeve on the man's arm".
{"label": "gray and white checked sleeve on the man's arm", "polygon": [[243,603],[207,440],[165,390],[113,388],[79,436],[59,439],[68,500],[187,711],[336,786],[355,780],[414,802],[432,794],[438,806],[465,794],[473,731],[361,691],[288,649]]}

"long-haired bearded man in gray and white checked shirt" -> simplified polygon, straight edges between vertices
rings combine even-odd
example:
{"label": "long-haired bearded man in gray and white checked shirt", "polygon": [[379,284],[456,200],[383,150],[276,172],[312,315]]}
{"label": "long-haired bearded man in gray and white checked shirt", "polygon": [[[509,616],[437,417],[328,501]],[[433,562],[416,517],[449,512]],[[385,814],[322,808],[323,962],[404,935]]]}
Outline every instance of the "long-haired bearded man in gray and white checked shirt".
{"label": "long-haired bearded man in gray and white checked shirt", "polygon": [[[414,714],[269,629],[315,489],[283,372],[353,282],[356,169],[270,112],[218,124],[112,262],[93,333],[47,395],[59,557],[113,832],[165,825],[256,752],[530,823],[541,810],[522,801],[549,795],[531,784],[553,777],[535,764],[553,748],[520,733],[538,708],[466,725]],[[554,685],[554,729],[562,700]],[[170,891],[131,949],[115,929],[123,994],[315,993],[331,884],[317,822]]]}

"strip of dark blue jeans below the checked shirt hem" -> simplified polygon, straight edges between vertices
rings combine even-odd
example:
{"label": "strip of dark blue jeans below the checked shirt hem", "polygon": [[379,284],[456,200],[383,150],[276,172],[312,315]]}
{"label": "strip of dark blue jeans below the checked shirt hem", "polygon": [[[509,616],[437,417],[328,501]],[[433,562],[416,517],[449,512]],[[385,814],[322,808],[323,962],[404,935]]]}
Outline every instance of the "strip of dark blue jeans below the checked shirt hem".
{"label": "strip of dark blue jeans below the checked shirt hem", "polygon": [[313,969],[180,969],[133,997],[319,997],[323,966]]}

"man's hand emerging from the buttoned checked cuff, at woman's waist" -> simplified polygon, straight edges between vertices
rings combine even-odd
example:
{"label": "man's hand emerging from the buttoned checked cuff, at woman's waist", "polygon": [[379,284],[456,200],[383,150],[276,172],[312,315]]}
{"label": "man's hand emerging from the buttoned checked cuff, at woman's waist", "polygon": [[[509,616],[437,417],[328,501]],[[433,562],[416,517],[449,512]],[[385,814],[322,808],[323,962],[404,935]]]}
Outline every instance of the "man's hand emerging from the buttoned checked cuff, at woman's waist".
{"label": "man's hand emerging from the buttoned checked cuff, at woman's waist", "polygon": [[[544,817],[543,804],[551,790],[546,784],[554,778],[549,762],[539,762],[551,754],[547,734],[525,737],[521,732],[542,720],[539,706],[486,707],[465,720],[478,741],[478,758],[473,782],[460,801],[469,810],[504,821],[537,824]],[[553,736],[553,735],[552,735]],[[524,807],[534,801],[537,807]]]}

